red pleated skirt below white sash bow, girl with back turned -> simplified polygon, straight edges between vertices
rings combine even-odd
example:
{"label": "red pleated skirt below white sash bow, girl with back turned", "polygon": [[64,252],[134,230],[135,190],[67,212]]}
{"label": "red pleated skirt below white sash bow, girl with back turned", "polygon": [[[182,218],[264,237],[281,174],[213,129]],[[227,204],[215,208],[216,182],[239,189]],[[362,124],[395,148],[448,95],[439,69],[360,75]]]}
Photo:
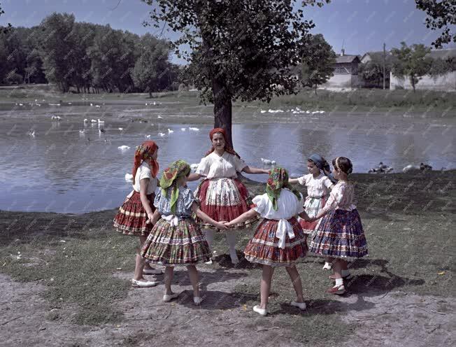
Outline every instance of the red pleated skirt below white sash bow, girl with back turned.
{"label": "red pleated skirt below white sash bow, girl with back turned", "polygon": [[285,248],[279,248],[279,239],[276,237],[278,220],[262,220],[245,247],[245,259],[271,267],[290,267],[300,257],[304,257],[307,251],[306,234],[296,218],[290,218],[288,222],[293,227],[294,237],[290,239],[287,235]]}

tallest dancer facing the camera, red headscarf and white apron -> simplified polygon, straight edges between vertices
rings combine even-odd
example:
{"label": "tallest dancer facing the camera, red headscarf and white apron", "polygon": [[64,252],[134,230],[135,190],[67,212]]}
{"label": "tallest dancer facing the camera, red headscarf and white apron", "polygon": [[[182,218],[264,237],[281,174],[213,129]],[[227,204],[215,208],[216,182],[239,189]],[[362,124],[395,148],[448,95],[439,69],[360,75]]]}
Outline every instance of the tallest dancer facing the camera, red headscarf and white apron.
{"label": "tallest dancer facing the camera, red headscarf and white apron", "polygon": [[[209,133],[212,141],[211,150],[201,159],[195,174],[191,174],[188,180],[197,180],[204,177],[203,182],[195,191],[195,196],[201,203],[201,211],[209,215],[213,220],[230,221],[242,213],[248,211],[250,201],[248,190],[238,180],[238,173],[268,174],[267,170],[249,167],[245,164],[233,148],[227,146],[227,134],[224,129],[215,128]],[[232,227],[244,228],[257,218],[236,223]],[[197,220],[201,227],[206,229],[206,240],[209,247],[212,246],[215,228],[212,225]],[[238,263],[236,255],[236,234],[228,231],[226,234],[229,244],[229,255],[233,264]]]}

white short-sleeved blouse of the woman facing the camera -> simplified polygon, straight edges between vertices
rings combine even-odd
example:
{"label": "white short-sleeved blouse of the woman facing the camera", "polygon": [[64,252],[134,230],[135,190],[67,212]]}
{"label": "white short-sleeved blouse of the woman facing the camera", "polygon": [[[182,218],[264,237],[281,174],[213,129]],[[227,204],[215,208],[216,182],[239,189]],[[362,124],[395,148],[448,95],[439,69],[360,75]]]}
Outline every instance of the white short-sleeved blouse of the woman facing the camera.
{"label": "white short-sleeved blouse of the woman facing the camera", "polygon": [[220,157],[215,152],[201,159],[199,162],[197,174],[206,176],[206,178],[237,178],[238,172],[241,172],[247,164],[239,159],[236,155],[225,152]]}

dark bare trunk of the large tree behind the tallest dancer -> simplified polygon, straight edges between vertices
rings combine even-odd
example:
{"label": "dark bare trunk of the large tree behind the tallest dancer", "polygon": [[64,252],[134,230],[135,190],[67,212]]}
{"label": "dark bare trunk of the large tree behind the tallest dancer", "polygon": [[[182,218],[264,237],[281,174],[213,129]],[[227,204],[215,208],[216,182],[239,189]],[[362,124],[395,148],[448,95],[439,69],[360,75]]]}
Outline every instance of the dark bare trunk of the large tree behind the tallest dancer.
{"label": "dark bare trunk of the large tree behind the tallest dancer", "polygon": [[213,80],[212,92],[214,97],[214,127],[223,128],[227,132],[227,145],[233,147],[231,136],[231,95],[219,80]]}

